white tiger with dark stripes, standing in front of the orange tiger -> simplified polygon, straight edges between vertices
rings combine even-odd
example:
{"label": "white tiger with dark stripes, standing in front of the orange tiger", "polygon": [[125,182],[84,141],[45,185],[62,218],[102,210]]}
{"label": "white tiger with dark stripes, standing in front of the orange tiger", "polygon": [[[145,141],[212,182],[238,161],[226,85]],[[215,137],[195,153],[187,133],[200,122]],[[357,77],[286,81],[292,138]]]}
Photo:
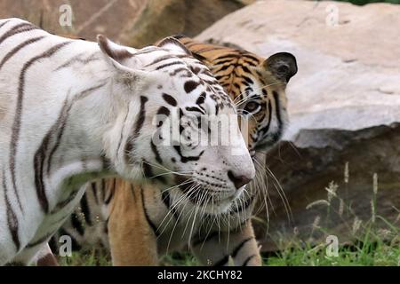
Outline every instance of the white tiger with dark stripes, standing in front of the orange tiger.
{"label": "white tiger with dark stripes, standing in front of the orange tiger", "polygon": [[[212,172],[220,185],[204,190],[226,206],[234,201],[255,174],[236,120],[229,146],[155,143],[153,135],[163,141],[159,134],[170,128],[154,116],[174,112],[236,114],[178,41],[135,50],[104,36],[96,44],[0,20],[0,264],[45,254],[84,193],[80,186],[94,178],[162,176],[175,185],[185,177],[198,187]],[[219,128],[199,126],[200,134],[218,135]]]}

